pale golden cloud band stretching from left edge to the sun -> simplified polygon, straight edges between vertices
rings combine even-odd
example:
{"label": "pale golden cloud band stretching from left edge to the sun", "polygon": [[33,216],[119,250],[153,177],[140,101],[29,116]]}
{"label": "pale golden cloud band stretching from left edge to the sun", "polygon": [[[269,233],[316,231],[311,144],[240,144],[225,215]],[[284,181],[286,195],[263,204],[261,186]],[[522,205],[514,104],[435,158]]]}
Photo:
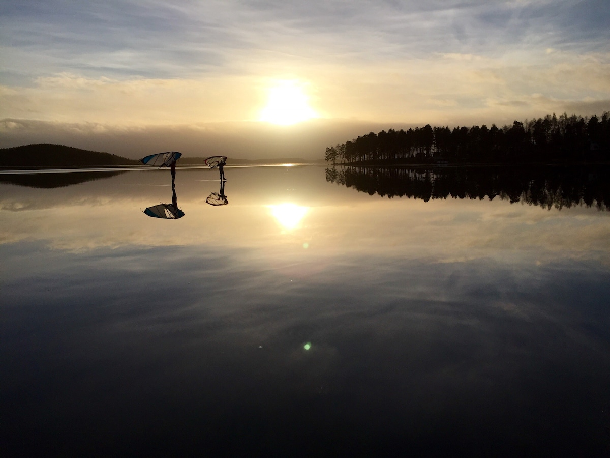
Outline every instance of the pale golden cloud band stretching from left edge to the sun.
{"label": "pale golden cloud band stretching from left edge to the sun", "polygon": [[34,87],[3,90],[0,113],[127,126],[248,120],[264,104],[263,95],[261,84],[240,77],[110,79],[60,73],[37,78]]}

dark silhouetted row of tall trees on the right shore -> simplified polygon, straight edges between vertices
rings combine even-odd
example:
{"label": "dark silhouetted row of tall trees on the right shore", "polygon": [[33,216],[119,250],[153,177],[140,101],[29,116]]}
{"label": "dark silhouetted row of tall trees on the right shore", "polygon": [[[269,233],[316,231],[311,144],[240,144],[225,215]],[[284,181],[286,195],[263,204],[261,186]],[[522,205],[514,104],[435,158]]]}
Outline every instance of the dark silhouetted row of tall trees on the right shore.
{"label": "dark silhouetted row of tall trees on the right shore", "polygon": [[531,162],[583,162],[610,160],[610,112],[601,117],[546,115],[468,127],[434,126],[389,129],[326,148],[325,160],[335,164],[449,163],[520,164]]}

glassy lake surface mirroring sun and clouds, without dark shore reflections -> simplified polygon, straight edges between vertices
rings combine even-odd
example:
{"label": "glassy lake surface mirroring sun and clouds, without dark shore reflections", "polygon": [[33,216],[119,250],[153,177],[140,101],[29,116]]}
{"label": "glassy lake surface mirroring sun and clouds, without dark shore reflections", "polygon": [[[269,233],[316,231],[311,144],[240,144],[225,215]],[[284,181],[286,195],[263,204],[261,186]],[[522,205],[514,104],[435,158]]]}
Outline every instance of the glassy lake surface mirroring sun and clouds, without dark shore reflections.
{"label": "glassy lake surface mirroring sun and clouds, without dark shore reflections", "polygon": [[608,456],[610,212],[225,173],[0,176],[3,456]]}

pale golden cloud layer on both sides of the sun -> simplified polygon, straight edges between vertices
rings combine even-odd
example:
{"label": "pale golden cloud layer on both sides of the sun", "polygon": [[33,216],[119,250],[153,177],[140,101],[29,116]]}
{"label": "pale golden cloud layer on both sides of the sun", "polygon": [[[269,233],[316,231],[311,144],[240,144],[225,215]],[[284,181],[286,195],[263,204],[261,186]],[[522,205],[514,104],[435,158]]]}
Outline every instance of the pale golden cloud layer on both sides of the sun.
{"label": "pale golden cloud layer on both sides of the sun", "polygon": [[[295,81],[308,88],[310,105],[323,117],[369,122],[455,124],[468,118],[500,124],[562,111],[570,103],[608,100],[610,54],[540,50],[536,57],[535,64],[528,64],[521,54],[503,59],[434,54],[355,67],[294,63],[281,73],[298,75]],[[127,126],[254,120],[278,79],[265,76],[268,65],[253,67],[256,75],[251,76],[193,79],[87,78],[66,72],[40,76],[30,87],[0,87],[0,117]],[[544,96],[545,103],[533,94]],[[429,100],[456,103],[439,107]]]}

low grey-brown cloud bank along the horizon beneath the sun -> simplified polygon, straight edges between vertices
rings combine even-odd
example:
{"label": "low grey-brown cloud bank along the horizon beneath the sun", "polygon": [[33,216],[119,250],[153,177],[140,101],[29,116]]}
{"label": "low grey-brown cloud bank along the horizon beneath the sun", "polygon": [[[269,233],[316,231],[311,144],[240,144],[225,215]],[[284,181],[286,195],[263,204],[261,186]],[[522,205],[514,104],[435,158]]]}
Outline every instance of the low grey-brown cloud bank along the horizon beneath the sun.
{"label": "low grey-brown cloud bank along the horizon beneath the sun", "polygon": [[295,126],[255,122],[121,126],[5,118],[0,120],[0,148],[52,143],[131,159],[153,152],[178,150],[196,157],[222,154],[243,159],[297,157],[318,160],[323,158],[328,145],[388,128],[386,123],[354,120],[314,120]]}

